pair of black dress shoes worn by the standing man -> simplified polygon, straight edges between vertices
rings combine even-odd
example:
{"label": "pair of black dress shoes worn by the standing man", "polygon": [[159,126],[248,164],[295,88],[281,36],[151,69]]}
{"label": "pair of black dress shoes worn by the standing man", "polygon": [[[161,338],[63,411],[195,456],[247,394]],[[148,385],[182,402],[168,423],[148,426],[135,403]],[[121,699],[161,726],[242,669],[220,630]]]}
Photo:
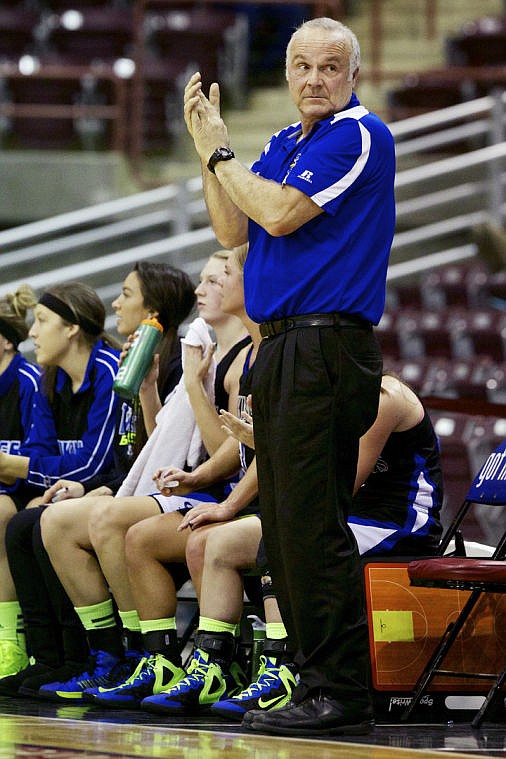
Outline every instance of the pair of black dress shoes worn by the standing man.
{"label": "pair of black dress shoes worn by the standing man", "polygon": [[365,735],[374,721],[369,706],[343,704],[322,695],[269,712],[255,709],[244,715],[242,724],[275,735]]}

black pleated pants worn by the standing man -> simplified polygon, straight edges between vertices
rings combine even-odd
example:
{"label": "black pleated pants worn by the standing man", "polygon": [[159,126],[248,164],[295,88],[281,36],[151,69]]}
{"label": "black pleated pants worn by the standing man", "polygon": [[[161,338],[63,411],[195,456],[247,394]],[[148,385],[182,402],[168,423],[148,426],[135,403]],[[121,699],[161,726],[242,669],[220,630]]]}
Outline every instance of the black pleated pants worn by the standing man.
{"label": "black pleated pants worn by the standing man", "polygon": [[283,621],[298,647],[296,702],[319,693],[370,700],[363,572],[347,516],[381,374],[367,325],[264,338],[255,361],[262,529]]}

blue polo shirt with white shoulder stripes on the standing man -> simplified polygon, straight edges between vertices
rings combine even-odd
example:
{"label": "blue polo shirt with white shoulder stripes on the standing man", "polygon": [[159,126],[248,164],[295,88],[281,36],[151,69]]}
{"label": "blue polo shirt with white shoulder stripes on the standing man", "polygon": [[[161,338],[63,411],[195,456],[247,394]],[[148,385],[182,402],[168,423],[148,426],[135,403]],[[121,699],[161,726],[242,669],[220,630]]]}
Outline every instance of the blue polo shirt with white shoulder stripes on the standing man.
{"label": "blue polo shirt with white shoulder stripes on the standing man", "polygon": [[296,187],[324,213],[283,237],[250,220],[248,315],[341,312],[377,324],[395,226],[392,134],[354,94],[297,142],[300,133],[297,123],[275,134],[251,170]]}

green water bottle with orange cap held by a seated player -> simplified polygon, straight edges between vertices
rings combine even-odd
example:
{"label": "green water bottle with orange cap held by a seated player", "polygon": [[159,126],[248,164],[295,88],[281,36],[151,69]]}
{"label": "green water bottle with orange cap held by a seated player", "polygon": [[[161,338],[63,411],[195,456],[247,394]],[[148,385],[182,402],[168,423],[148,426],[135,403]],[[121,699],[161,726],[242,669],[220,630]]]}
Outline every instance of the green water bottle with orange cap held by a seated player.
{"label": "green water bottle with orange cap held by a seated player", "polygon": [[163,327],[155,318],[143,319],[135,330],[134,340],[113,384],[114,391],[122,398],[134,398],[139,392],[162,335]]}

